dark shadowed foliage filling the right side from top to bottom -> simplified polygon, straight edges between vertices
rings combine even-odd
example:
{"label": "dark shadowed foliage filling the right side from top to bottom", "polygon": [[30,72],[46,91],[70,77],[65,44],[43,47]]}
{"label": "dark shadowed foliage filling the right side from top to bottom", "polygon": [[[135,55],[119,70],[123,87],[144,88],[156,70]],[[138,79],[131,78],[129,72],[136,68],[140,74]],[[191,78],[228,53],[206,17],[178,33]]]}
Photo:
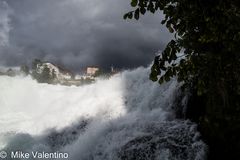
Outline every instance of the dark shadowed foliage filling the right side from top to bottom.
{"label": "dark shadowed foliage filling the right side from top to bottom", "polygon": [[210,145],[210,159],[239,157],[239,1],[131,0],[131,6],[134,10],[124,19],[162,11],[161,23],[174,34],[155,57],[150,79],[162,84],[176,76],[183,88],[190,88],[194,100],[189,117],[199,123]]}

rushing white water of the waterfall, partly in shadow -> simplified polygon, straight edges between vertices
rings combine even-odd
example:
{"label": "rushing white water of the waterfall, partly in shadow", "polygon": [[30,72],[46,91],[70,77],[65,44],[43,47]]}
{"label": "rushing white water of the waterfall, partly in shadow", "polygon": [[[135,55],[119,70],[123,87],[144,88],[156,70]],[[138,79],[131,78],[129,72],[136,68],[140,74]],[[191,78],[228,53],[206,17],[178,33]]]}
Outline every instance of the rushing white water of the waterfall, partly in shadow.
{"label": "rushing white water of the waterfall, partly in shadow", "polygon": [[149,81],[146,68],[80,87],[1,76],[0,149],[72,160],[204,159],[196,125],[175,119],[177,91],[175,80]]}

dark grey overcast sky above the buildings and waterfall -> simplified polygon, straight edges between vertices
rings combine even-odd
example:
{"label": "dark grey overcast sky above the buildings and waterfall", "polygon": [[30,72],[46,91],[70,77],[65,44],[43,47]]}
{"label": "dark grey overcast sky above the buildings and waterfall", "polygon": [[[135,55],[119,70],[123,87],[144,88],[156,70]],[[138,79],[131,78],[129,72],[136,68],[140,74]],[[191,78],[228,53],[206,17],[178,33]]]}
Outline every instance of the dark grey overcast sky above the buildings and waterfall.
{"label": "dark grey overcast sky above the buildings and waterfall", "polygon": [[160,14],[123,20],[130,0],[0,0],[0,65],[34,58],[81,70],[146,66],[170,35]]}

